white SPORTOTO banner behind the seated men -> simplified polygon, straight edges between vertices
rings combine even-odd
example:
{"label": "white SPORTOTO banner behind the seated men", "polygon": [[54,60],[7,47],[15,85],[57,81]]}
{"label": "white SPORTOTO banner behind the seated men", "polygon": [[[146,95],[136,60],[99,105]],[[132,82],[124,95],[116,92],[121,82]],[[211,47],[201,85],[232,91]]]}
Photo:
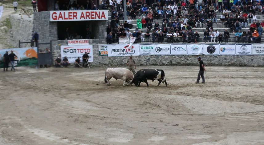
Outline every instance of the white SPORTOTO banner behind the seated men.
{"label": "white SPORTOTO banner behind the seated men", "polygon": [[83,61],[82,57],[85,52],[89,55],[88,62],[93,62],[93,46],[92,45],[77,45],[77,46],[61,46],[61,59],[64,56],[67,57],[70,63],[75,62],[75,60],[80,57],[80,60]]}

